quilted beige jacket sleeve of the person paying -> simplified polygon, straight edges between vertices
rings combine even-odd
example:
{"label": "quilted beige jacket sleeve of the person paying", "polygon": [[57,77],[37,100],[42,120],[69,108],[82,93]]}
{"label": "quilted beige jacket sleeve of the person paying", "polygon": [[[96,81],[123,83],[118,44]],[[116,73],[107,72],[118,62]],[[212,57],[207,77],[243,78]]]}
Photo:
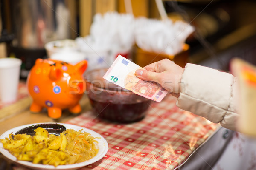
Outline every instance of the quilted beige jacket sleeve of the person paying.
{"label": "quilted beige jacket sleeve of the person paying", "polygon": [[237,83],[232,74],[186,64],[176,105],[211,122],[236,130]]}

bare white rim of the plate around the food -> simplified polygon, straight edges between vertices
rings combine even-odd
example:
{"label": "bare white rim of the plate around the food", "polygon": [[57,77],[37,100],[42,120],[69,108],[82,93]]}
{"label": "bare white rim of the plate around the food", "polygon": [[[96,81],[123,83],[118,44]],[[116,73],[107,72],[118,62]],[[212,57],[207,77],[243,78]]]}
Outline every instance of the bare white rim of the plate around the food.
{"label": "bare white rim of the plate around the food", "polygon": [[[24,127],[28,127],[31,125],[37,125],[38,123],[34,123],[34,124],[29,124],[29,125],[22,125],[22,126],[18,126],[15,127],[11,130],[6,131],[5,133],[3,133],[0,136],[0,139],[5,139],[6,137],[9,138],[9,134],[13,133],[15,134],[18,130],[24,128]],[[44,124],[44,123],[40,123],[40,124]],[[87,132],[90,133],[93,137],[100,137],[100,139],[96,139],[99,143],[98,143],[98,147],[99,147],[99,152],[97,153],[96,156],[94,156],[92,159],[89,159],[87,161],[78,163],[78,164],[70,164],[70,165],[59,165],[57,167],[54,167],[52,165],[43,165],[43,164],[33,164],[32,162],[29,161],[19,161],[17,160],[17,158],[15,156],[13,156],[11,153],[9,153],[8,150],[3,148],[3,144],[0,142],[0,152],[6,156],[8,159],[17,162],[18,164],[21,164],[25,167],[29,167],[32,169],[37,169],[37,170],[73,170],[73,169],[78,169],[81,167],[84,167],[86,165],[92,164],[96,161],[99,161],[100,159],[102,159],[103,156],[105,156],[105,154],[108,151],[108,142],[99,134],[96,133],[93,130],[84,128],[84,127],[80,127],[80,126],[76,126],[76,125],[70,125],[70,124],[65,124],[65,123],[58,123],[60,125],[64,125],[66,127],[66,129],[73,129],[73,130],[82,130],[82,132]]]}

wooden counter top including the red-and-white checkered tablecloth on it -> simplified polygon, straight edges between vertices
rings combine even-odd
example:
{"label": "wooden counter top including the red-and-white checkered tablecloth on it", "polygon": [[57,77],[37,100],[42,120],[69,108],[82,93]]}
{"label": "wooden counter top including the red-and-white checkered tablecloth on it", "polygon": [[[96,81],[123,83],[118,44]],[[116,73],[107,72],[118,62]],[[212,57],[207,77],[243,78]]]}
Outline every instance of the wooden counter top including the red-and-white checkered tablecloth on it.
{"label": "wooden counter top including the red-and-white checkered tablecloth on it", "polygon": [[[30,123],[64,122],[93,130],[108,142],[106,155],[81,170],[173,170],[196,153],[198,147],[219,127],[218,124],[181,110],[175,105],[176,100],[166,95],[161,102],[151,103],[144,119],[122,124],[99,119],[99,113],[96,115],[91,111],[86,94],[80,100],[81,114],[73,115],[63,111],[58,120],[49,118],[46,109],[38,114],[30,113],[31,99],[25,96],[12,105],[0,107],[0,114],[10,113],[0,121],[0,134]],[[14,169],[27,170],[27,167],[15,165]]]}

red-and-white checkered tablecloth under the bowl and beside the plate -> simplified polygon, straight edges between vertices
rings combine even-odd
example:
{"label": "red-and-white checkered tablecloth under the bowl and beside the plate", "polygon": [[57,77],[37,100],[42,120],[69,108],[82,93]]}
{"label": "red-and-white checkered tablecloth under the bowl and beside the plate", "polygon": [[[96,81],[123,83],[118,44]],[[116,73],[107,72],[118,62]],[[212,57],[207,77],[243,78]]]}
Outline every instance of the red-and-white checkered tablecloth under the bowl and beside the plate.
{"label": "red-and-white checkered tablecloth under the bowl and beside the plate", "polygon": [[132,124],[105,122],[91,111],[66,122],[94,130],[108,142],[104,158],[81,170],[172,170],[186,161],[219,125],[177,108],[175,102],[171,95],[154,102],[147,116]]}

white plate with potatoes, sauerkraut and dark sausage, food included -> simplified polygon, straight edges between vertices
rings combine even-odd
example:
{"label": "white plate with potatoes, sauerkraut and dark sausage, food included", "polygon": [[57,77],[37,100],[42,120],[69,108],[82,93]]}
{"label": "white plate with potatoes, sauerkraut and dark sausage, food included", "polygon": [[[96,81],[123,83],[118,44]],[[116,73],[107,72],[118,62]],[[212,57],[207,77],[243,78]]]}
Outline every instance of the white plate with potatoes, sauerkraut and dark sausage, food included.
{"label": "white plate with potatoes, sauerkraut and dark sausage, food included", "polygon": [[32,169],[73,170],[105,156],[108,142],[93,130],[65,123],[22,125],[0,136],[0,152]]}

